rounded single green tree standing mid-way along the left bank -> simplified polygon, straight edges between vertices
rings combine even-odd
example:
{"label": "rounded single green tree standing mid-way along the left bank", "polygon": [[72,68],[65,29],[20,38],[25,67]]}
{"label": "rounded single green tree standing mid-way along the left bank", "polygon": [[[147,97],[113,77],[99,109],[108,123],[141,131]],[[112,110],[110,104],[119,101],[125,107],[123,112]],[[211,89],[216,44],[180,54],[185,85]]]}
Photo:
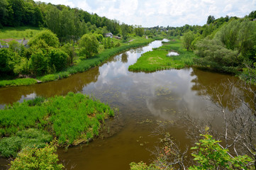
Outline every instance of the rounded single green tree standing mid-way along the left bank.
{"label": "rounded single green tree standing mid-way along the left bank", "polygon": [[86,55],[86,58],[98,53],[99,41],[94,35],[84,34],[79,40],[80,55]]}

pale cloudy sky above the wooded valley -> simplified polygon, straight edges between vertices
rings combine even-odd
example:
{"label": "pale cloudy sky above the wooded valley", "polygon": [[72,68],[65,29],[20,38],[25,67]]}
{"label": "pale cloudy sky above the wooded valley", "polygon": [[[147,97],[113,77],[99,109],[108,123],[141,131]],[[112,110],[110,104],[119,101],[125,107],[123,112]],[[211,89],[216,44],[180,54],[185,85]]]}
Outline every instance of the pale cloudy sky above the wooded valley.
{"label": "pale cloudy sky above the wooded valley", "polygon": [[[37,0],[36,0],[37,1]],[[89,13],[143,27],[203,26],[208,16],[243,17],[256,10],[256,0],[40,0],[82,8]]]}

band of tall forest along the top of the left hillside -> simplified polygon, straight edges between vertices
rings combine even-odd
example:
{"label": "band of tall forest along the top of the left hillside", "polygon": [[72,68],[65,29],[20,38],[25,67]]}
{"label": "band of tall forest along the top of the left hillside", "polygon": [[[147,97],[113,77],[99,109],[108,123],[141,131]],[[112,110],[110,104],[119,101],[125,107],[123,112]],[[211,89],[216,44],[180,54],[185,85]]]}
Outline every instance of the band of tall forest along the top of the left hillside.
{"label": "band of tall forest along the top of the left hillside", "polygon": [[65,5],[45,4],[33,0],[1,0],[0,28],[5,26],[34,26],[48,28],[57,35],[60,42],[78,40],[85,33],[114,35],[143,35],[143,28],[128,26],[96,13],[88,13],[79,8]]}

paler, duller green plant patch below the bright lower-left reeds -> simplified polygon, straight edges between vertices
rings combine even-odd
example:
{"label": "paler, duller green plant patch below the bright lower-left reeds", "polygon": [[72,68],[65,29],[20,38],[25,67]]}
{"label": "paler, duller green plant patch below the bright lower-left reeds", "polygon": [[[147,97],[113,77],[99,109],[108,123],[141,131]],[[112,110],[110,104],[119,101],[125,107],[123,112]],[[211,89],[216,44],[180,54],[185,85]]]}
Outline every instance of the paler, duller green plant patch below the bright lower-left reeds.
{"label": "paler, duller green plant patch below the bright lower-left reeds", "polygon": [[52,135],[37,129],[18,131],[16,135],[4,137],[0,140],[0,153],[2,157],[16,157],[17,152],[26,147],[43,148],[46,142],[52,140]]}

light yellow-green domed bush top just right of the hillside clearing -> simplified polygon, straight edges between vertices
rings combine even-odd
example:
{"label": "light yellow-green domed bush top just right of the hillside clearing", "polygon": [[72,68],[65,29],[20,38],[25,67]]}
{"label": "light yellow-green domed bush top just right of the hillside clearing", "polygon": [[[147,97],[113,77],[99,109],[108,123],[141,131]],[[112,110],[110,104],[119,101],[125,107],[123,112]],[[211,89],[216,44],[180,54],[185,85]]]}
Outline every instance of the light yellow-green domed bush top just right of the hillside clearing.
{"label": "light yellow-green domed bush top just right of the hillside clearing", "polygon": [[39,40],[44,40],[46,45],[50,47],[59,46],[59,40],[57,38],[57,35],[52,33],[50,30],[43,30],[37,35],[35,35],[35,37],[29,40],[28,45],[30,46],[37,45]]}

